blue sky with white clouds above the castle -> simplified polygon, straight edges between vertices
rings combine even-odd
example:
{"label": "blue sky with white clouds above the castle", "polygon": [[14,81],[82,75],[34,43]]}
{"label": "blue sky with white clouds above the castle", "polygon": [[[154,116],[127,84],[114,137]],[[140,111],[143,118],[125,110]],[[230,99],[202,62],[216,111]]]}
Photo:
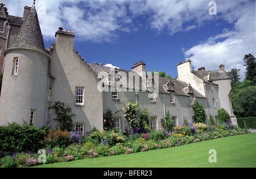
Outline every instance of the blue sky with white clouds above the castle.
{"label": "blue sky with white clouds above the castle", "polygon": [[[3,0],[10,15],[23,16],[32,0]],[[44,44],[55,43],[59,27],[75,34],[74,48],[87,63],[177,76],[176,64],[192,68],[241,69],[256,55],[255,0],[37,0]]]}

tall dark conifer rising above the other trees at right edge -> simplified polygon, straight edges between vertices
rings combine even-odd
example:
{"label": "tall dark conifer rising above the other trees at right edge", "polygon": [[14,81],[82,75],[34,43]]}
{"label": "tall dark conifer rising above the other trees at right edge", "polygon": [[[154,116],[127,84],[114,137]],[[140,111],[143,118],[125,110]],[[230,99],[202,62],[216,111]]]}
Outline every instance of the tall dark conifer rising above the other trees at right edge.
{"label": "tall dark conifer rising above the other trees at right edge", "polygon": [[250,80],[253,82],[256,82],[256,59],[251,53],[249,55],[245,55],[243,58],[243,61],[245,62],[246,66],[246,72],[245,72],[245,77],[246,80]]}

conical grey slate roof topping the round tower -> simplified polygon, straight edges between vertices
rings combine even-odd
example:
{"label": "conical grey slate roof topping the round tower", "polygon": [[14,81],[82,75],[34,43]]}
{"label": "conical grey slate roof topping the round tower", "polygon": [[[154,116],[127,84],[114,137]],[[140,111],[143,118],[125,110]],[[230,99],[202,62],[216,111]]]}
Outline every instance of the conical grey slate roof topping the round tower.
{"label": "conical grey slate roof topping the round tower", "polygon": [[31,48],[46,52],[35,5],[32,6],[11,45],[11,48],[15,47]]}

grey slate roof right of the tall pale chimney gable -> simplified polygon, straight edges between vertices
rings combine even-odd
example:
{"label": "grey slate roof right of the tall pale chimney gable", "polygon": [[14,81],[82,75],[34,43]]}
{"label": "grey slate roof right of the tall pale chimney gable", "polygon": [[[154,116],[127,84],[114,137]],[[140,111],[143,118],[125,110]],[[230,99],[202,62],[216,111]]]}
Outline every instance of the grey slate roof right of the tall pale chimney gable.
{"label": "grey slate roof right of the tall pale chimney gable", "polygon": [[210,73],[211,80],[229,79],[228,74],[226,74],[226,72],[223,72],[222,70],[208,70],[204,72],[192,70],[191,73],[195,74],[195,76],[199,77],[204,82],[208,81],[208,73]]}

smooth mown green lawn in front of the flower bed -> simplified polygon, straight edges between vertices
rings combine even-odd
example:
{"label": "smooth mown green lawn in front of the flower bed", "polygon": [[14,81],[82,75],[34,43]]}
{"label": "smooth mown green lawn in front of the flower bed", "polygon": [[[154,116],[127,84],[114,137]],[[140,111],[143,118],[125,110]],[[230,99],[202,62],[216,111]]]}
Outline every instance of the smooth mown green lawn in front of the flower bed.
{"label": "smooth mown green lawn in front of the flower bed", "polygon": [[[210,149],[216,163],[209,163]],[[156,167],[256,167],[256,133],[229,136],[154,151],[97,157],[66,163],[38,165],[46,168],[156,168]]]}

